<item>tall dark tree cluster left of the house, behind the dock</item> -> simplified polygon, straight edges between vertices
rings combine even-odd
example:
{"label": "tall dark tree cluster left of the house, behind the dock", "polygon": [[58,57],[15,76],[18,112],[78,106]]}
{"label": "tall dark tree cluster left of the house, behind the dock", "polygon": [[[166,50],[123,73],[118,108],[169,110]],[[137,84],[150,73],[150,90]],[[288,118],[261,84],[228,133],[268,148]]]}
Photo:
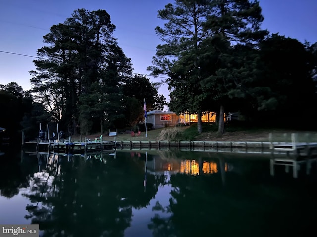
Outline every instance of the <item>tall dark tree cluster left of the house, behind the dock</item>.
{"label": "tall dark tree cluster left of the house, behind the dock", "polygon": [[51,27],[44,36],[48,46],[38,50],[36,70],[31,71],[36,100],[72,133],[77,125],[94,127],[97,120],[103,130],[104,121],[112,119],[105,114],[113,115],[113,110],[105,110],[117,106],[118,86],[132,73],[131,60],[112,36],[114,29],[105,10],[78,9]]}

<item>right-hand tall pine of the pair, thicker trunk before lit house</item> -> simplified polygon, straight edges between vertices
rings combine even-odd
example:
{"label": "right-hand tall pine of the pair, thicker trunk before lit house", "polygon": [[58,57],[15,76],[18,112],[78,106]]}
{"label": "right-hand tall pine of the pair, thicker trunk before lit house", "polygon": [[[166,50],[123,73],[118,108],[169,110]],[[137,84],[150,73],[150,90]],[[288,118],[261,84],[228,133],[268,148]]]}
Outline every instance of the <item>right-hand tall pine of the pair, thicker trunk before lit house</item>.
{"label": "right-hand tall pine of the pair, thicker trunk before lit house", "polygon": [[211,38],[202,45],[217,53],[217,68],[214,74],[206,75],[202,83],[204,90],[218,89],[213,98],[220,106],[218,132],[222,134],[224,107],[228,99],[241,97],[239,90],[243,90],[246,81],[252,80],[256,55],[253,49],[267,31],[260,29],[264,18],[257,0],[214,0],[211,8],[204,25]]}

